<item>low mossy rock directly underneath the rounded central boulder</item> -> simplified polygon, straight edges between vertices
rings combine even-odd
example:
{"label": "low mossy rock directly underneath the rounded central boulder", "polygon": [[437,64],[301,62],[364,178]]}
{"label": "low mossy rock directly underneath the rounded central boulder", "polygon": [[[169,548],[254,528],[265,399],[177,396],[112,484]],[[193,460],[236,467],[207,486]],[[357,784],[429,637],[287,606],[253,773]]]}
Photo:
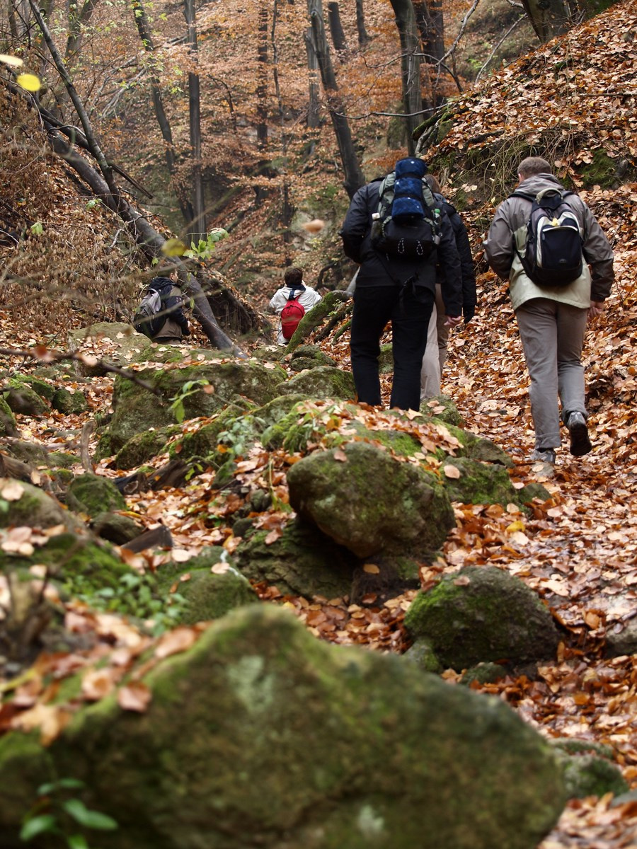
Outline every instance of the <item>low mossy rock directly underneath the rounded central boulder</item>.
{"label": "low mossy rock directly underneath the rounded central boulder", "polygon": [[347,548],[298,519],[287,523],[279,539],[268,543],[267,538],[268,531],[256,531],[235,551],[236,564],[245,577],[306,599],[349,595],[357,561]]}

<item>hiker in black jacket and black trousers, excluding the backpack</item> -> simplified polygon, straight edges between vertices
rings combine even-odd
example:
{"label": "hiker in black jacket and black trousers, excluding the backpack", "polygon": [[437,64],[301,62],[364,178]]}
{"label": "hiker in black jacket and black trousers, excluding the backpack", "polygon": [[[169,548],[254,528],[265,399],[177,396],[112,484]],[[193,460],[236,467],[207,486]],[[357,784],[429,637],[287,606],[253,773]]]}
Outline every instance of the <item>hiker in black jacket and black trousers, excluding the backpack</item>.
{"label": "hiker in black jacket and black trousers, excluding the backpack", "polygon": [[440,216],[440,243],[424,259],[403,260],[375,250],[371,240],[372,216],[378,211],[381,178],[354,194],[341,228],[343,250],[358,262],[350,353],[358,401],[381,405],[379,357],[381,336],[392,322],[394,374],[390,406],[420,407],[420,366],[425,353],[427,325],[436,295],[436,262],[447,271],[443,301],[447,321],[462,318],[460,261],[454,231],[446,212]]}

